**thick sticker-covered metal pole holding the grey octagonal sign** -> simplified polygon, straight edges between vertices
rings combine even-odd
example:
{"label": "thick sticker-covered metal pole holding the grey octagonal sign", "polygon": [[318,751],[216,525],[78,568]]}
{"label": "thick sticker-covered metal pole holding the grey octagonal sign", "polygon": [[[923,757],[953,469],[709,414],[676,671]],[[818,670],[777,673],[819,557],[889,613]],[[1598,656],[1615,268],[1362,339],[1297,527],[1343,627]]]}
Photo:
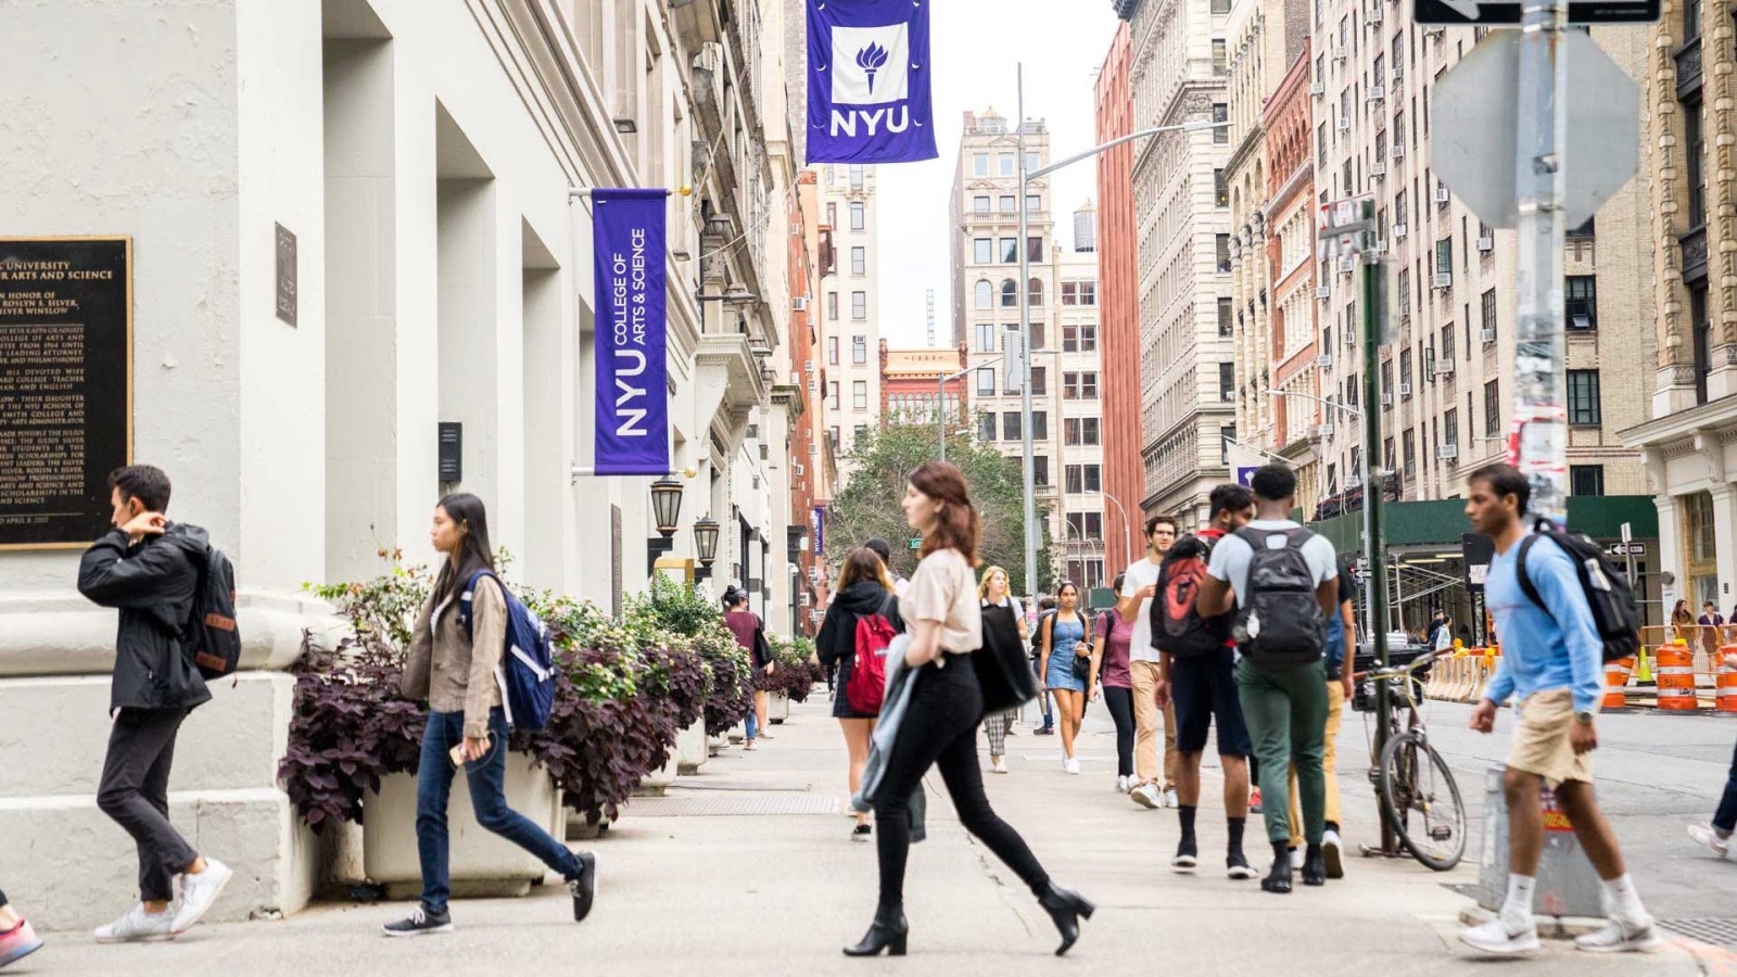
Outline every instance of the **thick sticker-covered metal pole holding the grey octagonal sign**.
{"label": "thick sticker-covered metal pole holding the grey octagonal sign", "polygon": [[1567,525],[1569,410],[1563,334],[1567,0],[1527,0],[1520,28],[1515,417],[1509,461],[1532,482],[1532,513]]}

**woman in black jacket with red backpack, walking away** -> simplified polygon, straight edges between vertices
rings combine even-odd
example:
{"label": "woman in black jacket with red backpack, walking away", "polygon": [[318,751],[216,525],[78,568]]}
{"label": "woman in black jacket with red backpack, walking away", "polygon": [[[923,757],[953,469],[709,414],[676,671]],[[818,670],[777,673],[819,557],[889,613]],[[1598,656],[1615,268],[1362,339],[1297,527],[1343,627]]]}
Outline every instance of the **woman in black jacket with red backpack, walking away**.
{"label": "woman in black jacket with red backpack, walking away", "polygon": [[[827,673],[834,676],[832,718],[844,730],[844,746],[851,751],[851,796],[862,789],[863,765],[868,763],[868,739],[874,735],[874,723],[881,714],[879,706],[874,709],[851,706],[849,695],[851,676],[856,671],[856,626],[874,615],[881,615],[895,633],[900,629],[898,596],[893,595],[893,579],[886,574],[886,563],[874,549],[853,549],[844,558],[839,586],[834,589],[827,617],[820,622],[820,635],[815,638],[815,654],[820,655],[820,664],[827,668]],[[851,840],[868,841],[870,836],[868,812],[858,812]]]}

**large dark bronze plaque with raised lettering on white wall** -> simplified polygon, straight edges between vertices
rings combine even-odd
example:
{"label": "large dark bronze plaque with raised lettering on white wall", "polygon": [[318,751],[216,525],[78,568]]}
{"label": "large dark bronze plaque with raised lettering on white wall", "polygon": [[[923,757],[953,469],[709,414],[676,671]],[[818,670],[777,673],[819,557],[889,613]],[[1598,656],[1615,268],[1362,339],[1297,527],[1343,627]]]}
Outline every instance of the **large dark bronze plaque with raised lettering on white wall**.
{"label": "large dark bronze plaque with raised lettering on white wall", "polygon": [[87,546],[132,461],[132,238],[0,238],[0,549]]}

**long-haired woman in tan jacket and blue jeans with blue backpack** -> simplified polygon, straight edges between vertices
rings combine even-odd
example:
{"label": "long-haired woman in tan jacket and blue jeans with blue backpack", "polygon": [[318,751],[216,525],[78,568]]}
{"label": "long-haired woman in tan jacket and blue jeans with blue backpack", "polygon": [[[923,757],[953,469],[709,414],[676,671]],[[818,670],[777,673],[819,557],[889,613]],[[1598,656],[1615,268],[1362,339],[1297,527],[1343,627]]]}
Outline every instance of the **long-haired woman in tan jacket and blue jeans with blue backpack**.
{"label": "long-haired woman in tan jacket and blue jeans with blue backpack", "polygon": [[[542,859],[561,873],[573,895],[573,921],[591,913],[598,894],[598,861],[571,852],[547,831],[507,807],[507,714],[497,671],[507,635],[507,593],[493,575],[488,513],[467,492],[434,506],[429,530],[441,560],[434,591],[417,614],[400,694],[427,699],[417,768],[417,852],[422,857],[422,902],[410,916],[384,927],[389,937],[420,937],[452,930],[446,902],[452,880],[446,862],[446,801],[452,779],[464,767],[476,822]],[[466,591],[466,588],[471,588]],[[471,605],[471,628],[460,603]]]}

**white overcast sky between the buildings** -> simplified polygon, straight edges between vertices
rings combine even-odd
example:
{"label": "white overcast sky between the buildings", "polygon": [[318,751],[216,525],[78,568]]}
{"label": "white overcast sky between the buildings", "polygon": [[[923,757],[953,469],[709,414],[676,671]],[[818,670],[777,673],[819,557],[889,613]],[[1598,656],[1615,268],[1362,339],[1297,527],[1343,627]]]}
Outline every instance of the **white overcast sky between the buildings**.
{"label": "white overcast sky between the buildings", "polygon": [[[935,336],[952,336],[947,203],[966,110],[1016,116],[1014,64],[1025,63],[1025,115],[1049,125],[1051,158],[1094,144],[1093,83],[1115,38],[1110,0],[936,0],[935,68],[938,160],[877,170],[881,217],[881,336],[895,348],[928,344],[924,292],[935,289]],[[1073,210],[1096,198],[1098,170],[1075,163],[1054,179],[1061,243],[1073,245]]]}

